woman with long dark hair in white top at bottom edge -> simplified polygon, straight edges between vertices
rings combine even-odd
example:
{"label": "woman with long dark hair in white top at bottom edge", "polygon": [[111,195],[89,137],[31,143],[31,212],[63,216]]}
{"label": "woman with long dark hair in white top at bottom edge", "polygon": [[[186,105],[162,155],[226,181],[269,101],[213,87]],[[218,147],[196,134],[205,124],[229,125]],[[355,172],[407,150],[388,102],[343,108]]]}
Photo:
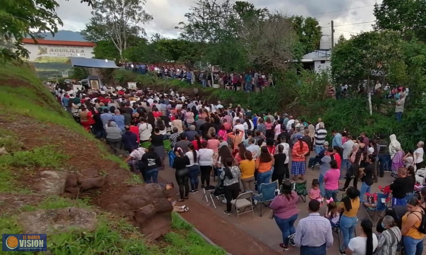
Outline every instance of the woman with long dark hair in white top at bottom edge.
{"label": "woman with long dark hair in white top at bottom edge", "polygon": [[373,255],[378,243],[376,234],[373,234],[373,223],[368,219],[361,221],[357,233],[358,236],[349,242],[346,254]]}

